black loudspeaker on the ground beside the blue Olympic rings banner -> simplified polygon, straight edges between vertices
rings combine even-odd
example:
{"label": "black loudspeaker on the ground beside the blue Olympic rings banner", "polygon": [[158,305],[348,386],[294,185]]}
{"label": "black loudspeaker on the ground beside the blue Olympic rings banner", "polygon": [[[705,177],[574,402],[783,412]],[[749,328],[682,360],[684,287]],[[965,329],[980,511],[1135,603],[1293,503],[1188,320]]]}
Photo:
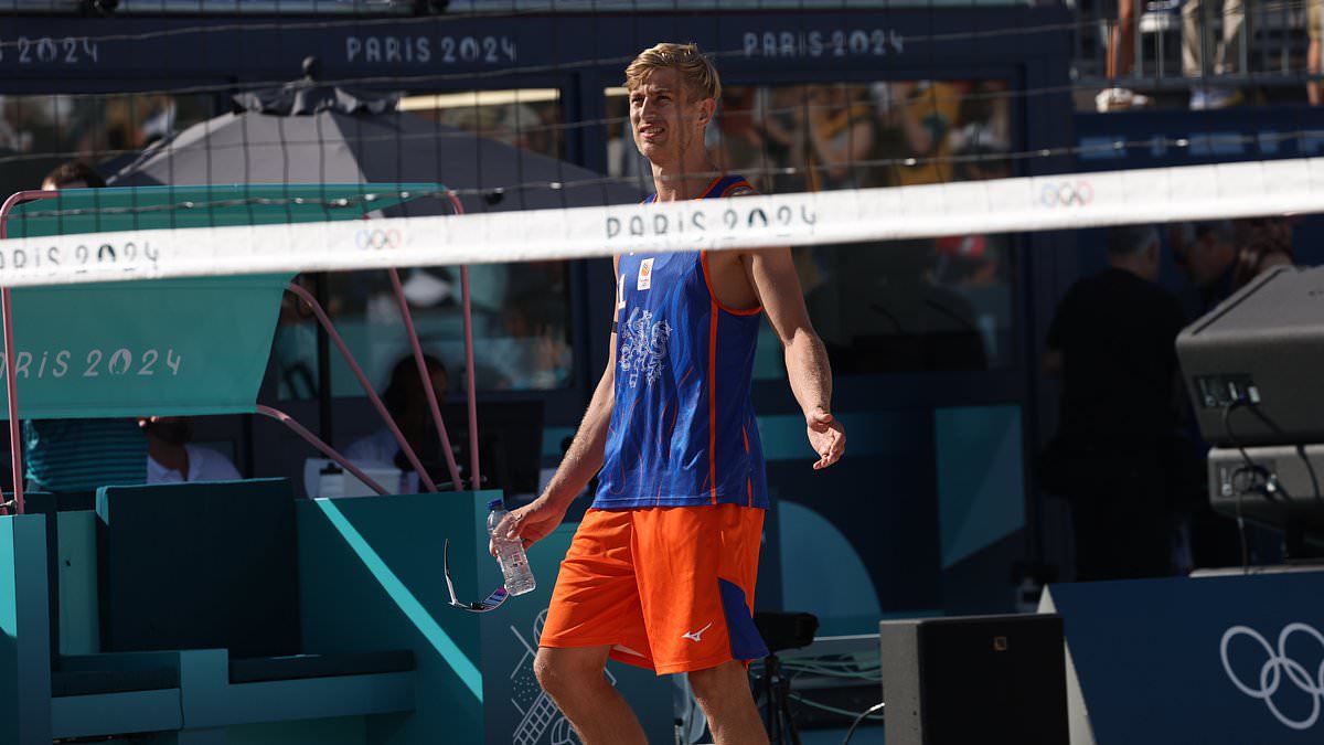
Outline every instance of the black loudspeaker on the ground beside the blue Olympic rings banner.
{"label": "black loudspeaker on the ground beside the blue Olympic rings banner", "polygon": [[879,623],[887,745],[1066,745],[1062,616]]}

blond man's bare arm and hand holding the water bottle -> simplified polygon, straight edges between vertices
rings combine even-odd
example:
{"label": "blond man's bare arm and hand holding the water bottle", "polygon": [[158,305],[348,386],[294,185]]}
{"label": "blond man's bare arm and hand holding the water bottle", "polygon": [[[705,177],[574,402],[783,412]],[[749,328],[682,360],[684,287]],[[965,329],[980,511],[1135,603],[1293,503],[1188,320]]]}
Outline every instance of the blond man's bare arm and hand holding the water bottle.
{"label": "blond man's bare arm and hand holding the water bottle", "polygon": [[[614,262],[613,262],[614,265]],[[614,272],[613,272],[614,273]],[[613,313],[616,310],[613,309]],[[571,441],[543,493],[526,506],[510,513],[507,533],[524,540],[524,547],[545,538],[561,524],[565,512],[575,497],[602,468],[606,448],[606,431],[612,422],[612,404],[616,402],[616,325],[608,343],[606,370],[593,390],[584,419]]]}

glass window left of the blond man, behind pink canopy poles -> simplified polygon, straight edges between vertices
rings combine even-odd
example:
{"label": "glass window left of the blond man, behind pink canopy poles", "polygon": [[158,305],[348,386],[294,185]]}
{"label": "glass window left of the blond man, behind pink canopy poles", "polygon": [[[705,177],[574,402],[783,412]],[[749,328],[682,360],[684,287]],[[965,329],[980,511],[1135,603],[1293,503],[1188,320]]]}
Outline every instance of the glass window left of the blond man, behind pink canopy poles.
{"label": "glass window left of the blond man, behind pink canopy poles", "polygon": [[[400,107],[523,151],[549,158],[564,151],[555,89],[405,95]],[[424,351],[445,365],[449,392],[459,394],[466,384],[459,268],[401,269],[400,280]],[[474,265],[469,268],[469,281],[478,390],[568,386],[572,374],[568,264]],[[334,273],[327,282],[327,313],[364,374],[381,391],[395,365],[410,354],[388,274]],[[274,351],[281,398],[311,398],[316,391],[316,325],[299,306],[287,294]],[[335,396],[363,395],[335,350],[331,391]]]}

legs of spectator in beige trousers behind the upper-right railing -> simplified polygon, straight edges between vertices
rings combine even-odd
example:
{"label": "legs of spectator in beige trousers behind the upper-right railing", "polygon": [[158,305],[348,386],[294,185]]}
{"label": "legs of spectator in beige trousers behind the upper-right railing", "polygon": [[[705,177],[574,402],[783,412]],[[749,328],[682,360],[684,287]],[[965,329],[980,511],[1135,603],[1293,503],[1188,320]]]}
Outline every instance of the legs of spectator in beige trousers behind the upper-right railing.
{"label": "legs of spectator in beige trousers behind the upper-right railing", "polygon": [[[1246,13],[1245,0],[1221,0],[1223,34],[1217,44],[1210,37],[1213,5],[1218,0],[1185,0],[1181,7],[1181,69],[1192,80],[1190,107],[1193,110],[1226,109],[1242,102],[1239,87],[1227,84],[1209,82],[1209,74],[1234,76],[1243,72],[1242,57],[1246,56]],[[1207,52],[1214,53],[1210,68]]]}

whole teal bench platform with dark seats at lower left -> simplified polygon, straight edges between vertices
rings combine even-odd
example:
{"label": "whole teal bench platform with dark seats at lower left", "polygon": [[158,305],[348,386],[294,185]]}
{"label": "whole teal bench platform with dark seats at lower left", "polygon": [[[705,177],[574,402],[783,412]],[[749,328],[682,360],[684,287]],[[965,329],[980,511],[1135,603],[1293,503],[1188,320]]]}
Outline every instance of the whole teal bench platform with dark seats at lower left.
{"label": "whole teal bench platform with dark seats at lower left", "polygon": [[[532,550],[536,591],[483,616],[448,604],[446,538],[461,595],[500,582],[483,525],[496,496],[307,501],[266,480],[113,488],[97,513],[0,517],[0,742],[564,736],[531,663],[576,526]],[[673,685],[624,665],[609,677],[650,738],[670,740]]]}

